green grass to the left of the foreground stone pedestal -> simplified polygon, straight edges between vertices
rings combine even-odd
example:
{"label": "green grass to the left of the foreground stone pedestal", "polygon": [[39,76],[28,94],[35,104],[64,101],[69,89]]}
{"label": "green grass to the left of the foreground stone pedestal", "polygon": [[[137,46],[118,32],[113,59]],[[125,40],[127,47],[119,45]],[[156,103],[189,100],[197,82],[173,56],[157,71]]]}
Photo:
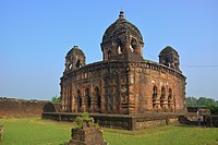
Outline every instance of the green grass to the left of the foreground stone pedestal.
{"label": "green grass to the left of the foreground stone pedestal", "polygon": [[3,140],[0,145],[59,145],[71,136],[71,124],[39,118],[3,119]]}

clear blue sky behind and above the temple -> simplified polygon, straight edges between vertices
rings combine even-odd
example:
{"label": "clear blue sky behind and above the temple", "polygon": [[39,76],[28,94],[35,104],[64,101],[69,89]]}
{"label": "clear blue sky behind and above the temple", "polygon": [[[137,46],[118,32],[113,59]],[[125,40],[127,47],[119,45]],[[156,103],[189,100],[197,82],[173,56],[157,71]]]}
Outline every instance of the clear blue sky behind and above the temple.
{"label": "clear blue sky behind and above the temple", "polygon": [[143,35],[145,59],[173,47],[186,96],[218,100],[217,0],[0,0],[0,96],[59,96],[66,52],[78,46],[86,63],[101,61],[102,35],[121,10]]}

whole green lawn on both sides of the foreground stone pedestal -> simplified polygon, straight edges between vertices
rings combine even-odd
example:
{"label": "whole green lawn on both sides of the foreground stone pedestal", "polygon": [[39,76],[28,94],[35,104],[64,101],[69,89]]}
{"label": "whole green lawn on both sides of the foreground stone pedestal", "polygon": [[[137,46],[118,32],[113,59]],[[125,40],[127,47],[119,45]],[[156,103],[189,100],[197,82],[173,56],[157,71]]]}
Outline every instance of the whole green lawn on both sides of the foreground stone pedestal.
{"label": "whole green lawn on both sides of the foreground stone pedestal", "polygon": [[[0,145],[60,145],[71,138],[72,123],[39,118],[0,119]],[[104,129],[110,145],[218,145],[217,128],[167,125],[143,131]]]}

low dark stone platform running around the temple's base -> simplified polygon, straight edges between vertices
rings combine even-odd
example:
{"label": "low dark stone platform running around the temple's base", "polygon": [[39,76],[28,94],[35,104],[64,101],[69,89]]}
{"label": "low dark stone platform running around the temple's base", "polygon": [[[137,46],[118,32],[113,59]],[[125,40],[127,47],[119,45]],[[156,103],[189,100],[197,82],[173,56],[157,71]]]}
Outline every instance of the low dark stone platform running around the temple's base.
{"label": "low dark stone platform running around the temple's base", "polygon": [[[44,119],[52,119],[58,121],[75,121],[76,117],[82,113],[69,112],[45,112]],[[106,114],[106,113],[89,113],[100,126],[124,129],[124,130],[143,130],[160,125],[179,123],[179,117],[184,113],[144,113],[144,114]],[[193,118],[193,116],[192,116]],[[186,117],[185,119],[191,119]],[[182,123],[185,123],[183,121]]]}

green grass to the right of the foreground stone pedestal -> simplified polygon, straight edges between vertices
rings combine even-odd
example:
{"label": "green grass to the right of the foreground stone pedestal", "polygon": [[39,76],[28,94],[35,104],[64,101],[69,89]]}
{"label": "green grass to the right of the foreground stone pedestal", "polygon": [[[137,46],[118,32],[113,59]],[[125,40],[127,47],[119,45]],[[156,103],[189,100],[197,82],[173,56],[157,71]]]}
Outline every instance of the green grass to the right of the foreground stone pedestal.
{"label": "green grass to the right of the foreground stone pedestal", "polygon": [[135,132],[105,129],[105,138],[114,145],[218,145],[218,129],[184,125]]}

